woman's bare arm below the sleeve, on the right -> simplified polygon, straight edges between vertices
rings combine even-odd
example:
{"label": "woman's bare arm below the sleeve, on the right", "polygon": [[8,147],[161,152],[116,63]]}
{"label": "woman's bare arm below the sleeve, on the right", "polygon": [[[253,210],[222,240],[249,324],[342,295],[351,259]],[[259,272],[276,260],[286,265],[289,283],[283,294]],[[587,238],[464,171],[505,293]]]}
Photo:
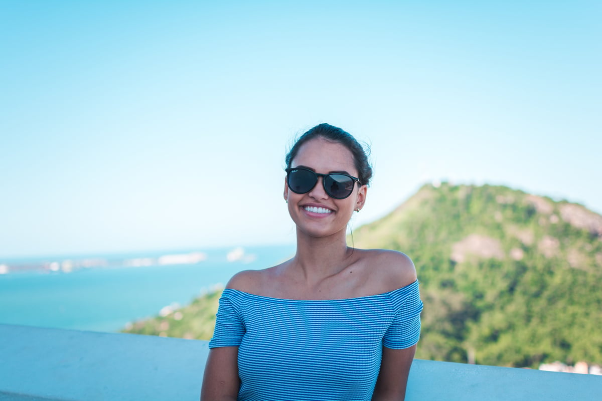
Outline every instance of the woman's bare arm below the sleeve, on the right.
{"label": "woman's bare arm below the sleeve, on the right", "polygon": [[403,401],[416,346],[405,349],[383,347],[380,373],[372,401]]}

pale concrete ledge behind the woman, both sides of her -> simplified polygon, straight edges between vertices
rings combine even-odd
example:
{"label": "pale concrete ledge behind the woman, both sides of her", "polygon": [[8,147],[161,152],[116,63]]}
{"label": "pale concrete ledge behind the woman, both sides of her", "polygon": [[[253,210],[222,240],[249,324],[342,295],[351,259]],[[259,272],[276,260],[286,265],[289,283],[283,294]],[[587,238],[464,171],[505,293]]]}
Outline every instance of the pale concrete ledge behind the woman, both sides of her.
{"label": "pale concrete ledge behind the woman, both sides of her", "polygon": [[[198,400],[207,341],[0,325],[0,401]],[[598,399],[602,376],[415,360],[407,401]]]}

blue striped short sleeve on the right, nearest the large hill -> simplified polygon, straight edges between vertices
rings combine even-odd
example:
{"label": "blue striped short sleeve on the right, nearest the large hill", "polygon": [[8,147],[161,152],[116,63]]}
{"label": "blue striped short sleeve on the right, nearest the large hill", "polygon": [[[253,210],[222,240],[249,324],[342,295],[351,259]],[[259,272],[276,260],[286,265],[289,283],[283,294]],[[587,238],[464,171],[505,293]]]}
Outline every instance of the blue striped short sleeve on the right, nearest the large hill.
{"label": "blue striped short sleeve on the right, nearest the large hill", "polygon": [[420,338],[420,312],[423,304],[418,281],[392,292],[391,302],[395,316],[385,332],[383,345],[394,349],[411,347]]}

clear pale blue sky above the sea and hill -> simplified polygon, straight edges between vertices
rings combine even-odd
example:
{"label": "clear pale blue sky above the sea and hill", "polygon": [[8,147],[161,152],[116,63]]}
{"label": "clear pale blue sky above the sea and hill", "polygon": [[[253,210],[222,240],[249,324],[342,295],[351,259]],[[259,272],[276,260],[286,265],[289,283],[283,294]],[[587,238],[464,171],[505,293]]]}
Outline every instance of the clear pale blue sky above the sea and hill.
{"label": "clear pale blue sky above the sea and hill", "polygon": [[293,243],[284,154],[372,145],[358,227],[424,182],[602,212],[598,1],[0,5],[0,257]]}

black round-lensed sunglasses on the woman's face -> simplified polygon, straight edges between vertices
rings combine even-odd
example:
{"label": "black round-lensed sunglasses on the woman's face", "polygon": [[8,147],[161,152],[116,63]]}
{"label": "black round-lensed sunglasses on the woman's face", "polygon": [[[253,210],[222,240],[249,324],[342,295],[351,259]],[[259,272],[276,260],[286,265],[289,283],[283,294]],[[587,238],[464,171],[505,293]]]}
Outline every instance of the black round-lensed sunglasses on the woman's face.
{"label": "black round-lensed sunglasses on the woman's face", "polygon": [[[296,194],[306,194],[311,191],[318,182],[318,177],[322,177],[324,191],[331,198],[344,199],[353,192],[353,186],[359,179],[344,173],[320,174],[307,168],[287,168],[288,188]],[[360,183],[361,185],[361,183]]]}

